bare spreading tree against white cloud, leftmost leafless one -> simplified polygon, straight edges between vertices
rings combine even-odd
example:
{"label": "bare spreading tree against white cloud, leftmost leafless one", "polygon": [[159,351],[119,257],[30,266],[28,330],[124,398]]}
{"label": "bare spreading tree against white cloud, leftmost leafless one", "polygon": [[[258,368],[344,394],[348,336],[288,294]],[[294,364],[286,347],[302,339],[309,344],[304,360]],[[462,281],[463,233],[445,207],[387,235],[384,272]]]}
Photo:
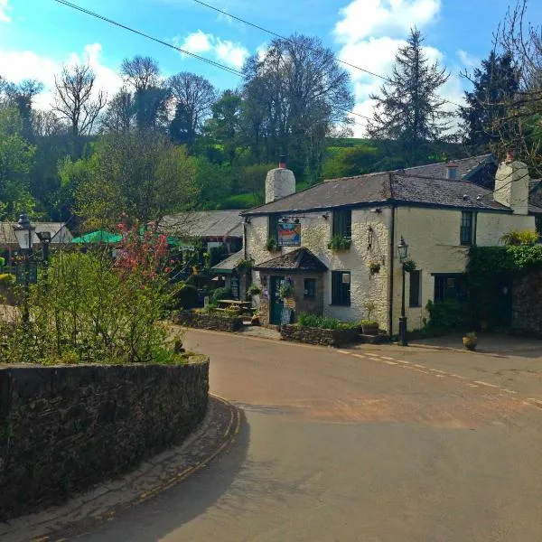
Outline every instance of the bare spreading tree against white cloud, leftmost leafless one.
{"label": "bare spreading tree against white cloud, leftmost leafless one", "polygon": [[89,135],[100,111],[107,105],[102,90],[95,91],[96,74],[89,64],[64,66],[60,76],[55,76],[56,89],[53,111],[70,124],[75,153],[79,154],[79,138]]}

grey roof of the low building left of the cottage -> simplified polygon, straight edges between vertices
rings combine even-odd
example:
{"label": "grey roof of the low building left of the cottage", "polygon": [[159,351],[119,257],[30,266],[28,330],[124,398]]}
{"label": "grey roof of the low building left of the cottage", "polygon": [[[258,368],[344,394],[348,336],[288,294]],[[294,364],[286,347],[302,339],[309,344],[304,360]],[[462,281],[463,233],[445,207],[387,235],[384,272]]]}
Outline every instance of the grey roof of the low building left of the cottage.
{"label": "grey roof of the low building left of the cottage", "polygon": [[196,210],[168,215],[160,229],[168,235],[182,233],[201,238],[243,237],[240,210]]}

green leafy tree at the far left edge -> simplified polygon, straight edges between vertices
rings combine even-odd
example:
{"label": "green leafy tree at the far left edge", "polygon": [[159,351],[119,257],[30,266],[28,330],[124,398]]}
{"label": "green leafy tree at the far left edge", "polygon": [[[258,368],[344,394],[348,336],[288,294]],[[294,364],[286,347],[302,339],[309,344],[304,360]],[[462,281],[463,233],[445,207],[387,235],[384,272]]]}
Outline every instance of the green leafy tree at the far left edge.
{"label": "green leafy tree at the far left edge", "polygon": [[17,107],[0,109],[0,220],[15,220],[33,213],[29,173],[35,148],[21,135],[23,123]]}

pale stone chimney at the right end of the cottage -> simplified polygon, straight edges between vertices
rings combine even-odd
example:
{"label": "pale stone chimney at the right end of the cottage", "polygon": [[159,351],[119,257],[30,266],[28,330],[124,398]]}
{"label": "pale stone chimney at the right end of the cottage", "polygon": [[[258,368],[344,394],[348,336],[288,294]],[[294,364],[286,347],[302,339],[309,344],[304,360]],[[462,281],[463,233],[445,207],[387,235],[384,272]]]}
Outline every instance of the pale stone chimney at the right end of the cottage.
{"label": "pale stone chimney at the right end of the cottage", "polygon": [[514,153],[510,150],[495,174],[493,199],[509,207],[514,214],[526,215],[529,181],[527,165],[515,160]]}

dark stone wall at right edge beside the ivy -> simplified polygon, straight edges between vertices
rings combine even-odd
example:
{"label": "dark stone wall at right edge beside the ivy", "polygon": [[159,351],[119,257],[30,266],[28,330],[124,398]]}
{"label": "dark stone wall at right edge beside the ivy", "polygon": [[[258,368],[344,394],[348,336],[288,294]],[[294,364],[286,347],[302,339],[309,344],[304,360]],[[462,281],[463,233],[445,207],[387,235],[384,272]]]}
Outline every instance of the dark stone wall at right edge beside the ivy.
{"label": "dark stone wall at right edge beside the ivy", "polygon": [[512,328],[542,336],[542,269],[531,269],[514,278]]}

